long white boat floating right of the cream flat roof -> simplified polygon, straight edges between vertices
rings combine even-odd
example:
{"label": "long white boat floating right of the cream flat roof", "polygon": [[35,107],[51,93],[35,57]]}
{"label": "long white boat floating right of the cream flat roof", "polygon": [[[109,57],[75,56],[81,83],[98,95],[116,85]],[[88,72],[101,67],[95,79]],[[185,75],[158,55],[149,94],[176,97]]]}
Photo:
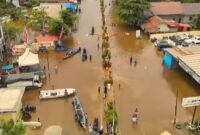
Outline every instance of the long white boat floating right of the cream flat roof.
{"label": "long white boat floating right of the cream flat roof", "polygon": [[74,88],[65,88],[65,89],[55,89],[55,90],[41,90],[40,99],[50,99],[50,98],[60,98],[73,95],[75,93]]}

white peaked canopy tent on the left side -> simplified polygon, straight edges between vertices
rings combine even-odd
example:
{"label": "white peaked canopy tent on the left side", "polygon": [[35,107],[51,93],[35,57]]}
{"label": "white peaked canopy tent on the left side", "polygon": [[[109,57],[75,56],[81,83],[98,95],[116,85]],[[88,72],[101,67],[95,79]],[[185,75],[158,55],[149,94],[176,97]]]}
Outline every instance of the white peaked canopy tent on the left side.
{"label": "white peaked canopy tent on the left side", "polygon": [[22,56],[19,57],[18,63],[19,67],[39,65],[38,54],[33,54],[32,52],[30,52],[29,48],[26,48],[24,54],[22,54]]}

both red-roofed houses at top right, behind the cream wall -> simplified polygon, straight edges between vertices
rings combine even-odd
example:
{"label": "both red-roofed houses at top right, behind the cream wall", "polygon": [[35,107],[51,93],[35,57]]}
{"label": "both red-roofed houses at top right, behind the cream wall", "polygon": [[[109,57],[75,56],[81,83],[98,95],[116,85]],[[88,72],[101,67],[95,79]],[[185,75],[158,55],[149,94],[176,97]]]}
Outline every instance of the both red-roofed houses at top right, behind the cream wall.
{"label": "both red-roofed houses at top right, behind the cream wall", "polygon": [[149,20],[141,27],[147,33],[190,31],[200,13],[200,3],[151,2]]}

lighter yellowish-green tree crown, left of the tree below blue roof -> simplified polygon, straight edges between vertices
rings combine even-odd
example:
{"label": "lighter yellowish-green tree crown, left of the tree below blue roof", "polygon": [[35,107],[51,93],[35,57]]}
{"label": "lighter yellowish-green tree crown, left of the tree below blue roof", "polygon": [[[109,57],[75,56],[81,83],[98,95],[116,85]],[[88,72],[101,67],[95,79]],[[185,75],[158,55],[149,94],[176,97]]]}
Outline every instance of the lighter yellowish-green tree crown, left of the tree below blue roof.
{"label": "lighter yellowish-green tree crown, left of the tree below blue roof", "polygon": [[50,20],[50,17],[47,16],[46,12],[40,10],[33,10],[29,20],[28,25],[33,28],[42,28]]}

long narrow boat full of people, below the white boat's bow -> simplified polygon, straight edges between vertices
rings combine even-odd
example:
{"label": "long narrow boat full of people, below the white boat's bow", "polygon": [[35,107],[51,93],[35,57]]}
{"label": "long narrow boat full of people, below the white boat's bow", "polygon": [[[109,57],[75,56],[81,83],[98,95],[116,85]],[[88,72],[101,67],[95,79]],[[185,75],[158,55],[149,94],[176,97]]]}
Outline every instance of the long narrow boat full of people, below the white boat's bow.
{"label": "long narrow boat full of people, below the white boat's bow", "polygon": [[75,110],[75,119],[80,124],[81,127],[87,127],[87,114],[83,111],[83,107],[77,96],[73,98],[72,105]]}

